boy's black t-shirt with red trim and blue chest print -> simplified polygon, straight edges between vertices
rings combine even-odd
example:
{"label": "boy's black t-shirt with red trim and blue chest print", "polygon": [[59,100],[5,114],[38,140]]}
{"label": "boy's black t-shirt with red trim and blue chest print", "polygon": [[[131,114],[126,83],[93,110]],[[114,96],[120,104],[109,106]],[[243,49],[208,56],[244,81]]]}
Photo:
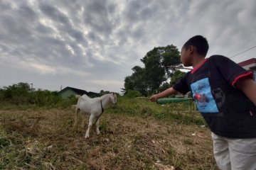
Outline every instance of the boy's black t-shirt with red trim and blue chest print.
{"label": "boy's black t-shirt with red trim and blue chest print", "polygon": [[252,75],[228,57],[213,55],[173,88],[182,94],[192,92],[198,110],[215,134],[252,138],[256,137],[256,106],[235,87],[238,79]]}

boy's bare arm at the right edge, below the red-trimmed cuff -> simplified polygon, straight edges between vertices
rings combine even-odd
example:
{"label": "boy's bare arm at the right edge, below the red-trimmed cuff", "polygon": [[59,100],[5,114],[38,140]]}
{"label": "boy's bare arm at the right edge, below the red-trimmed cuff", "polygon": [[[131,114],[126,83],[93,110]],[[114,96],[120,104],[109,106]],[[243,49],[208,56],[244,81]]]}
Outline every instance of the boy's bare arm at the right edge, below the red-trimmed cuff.
{"label": "boy's bare arm at the right edge, below the red-trimmed cuff", "polygon": [[236,83],[238,89],[243,91],[245,95],[252,101],[256,106],[256,83],[252,79],[240,79]]}

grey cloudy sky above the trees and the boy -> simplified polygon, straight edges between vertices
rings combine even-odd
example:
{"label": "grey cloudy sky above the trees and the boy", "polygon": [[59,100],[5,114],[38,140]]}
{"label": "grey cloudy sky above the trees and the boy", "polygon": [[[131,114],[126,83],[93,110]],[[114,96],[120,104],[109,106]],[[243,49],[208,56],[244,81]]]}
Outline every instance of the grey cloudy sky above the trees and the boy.
{"label": "grey cloudy sky above the trees and the boy", "polygon": [[1,0],[0,87],[119,92],[154,47],[203,35],[210,55],[256,57],[255,0]]}

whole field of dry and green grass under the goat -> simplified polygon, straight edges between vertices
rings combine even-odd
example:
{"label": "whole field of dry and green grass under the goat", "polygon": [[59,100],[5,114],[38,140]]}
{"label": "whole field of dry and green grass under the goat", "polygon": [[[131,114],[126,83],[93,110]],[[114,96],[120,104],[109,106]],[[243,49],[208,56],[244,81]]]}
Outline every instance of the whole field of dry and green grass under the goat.
{"label": "whole field of dry and green grass under the goat", "polygon": [[0,169],[218,169],[210,130],[188,106],[119,98],[87,140],[72,108],[2,106]]}

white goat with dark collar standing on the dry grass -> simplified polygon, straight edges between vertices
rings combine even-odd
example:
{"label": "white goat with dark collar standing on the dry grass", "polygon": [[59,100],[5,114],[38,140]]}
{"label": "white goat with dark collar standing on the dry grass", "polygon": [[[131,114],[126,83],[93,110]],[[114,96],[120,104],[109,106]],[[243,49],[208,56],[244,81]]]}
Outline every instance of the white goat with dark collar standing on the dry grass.
{"label": "white goat with dark collar standing on the dry grass", "polygon": [[90,128],[92,128],[92,122],[96,120],[96,132],[97,135],[100,135],[99,130],[99,118],[103,113],[104,108],[109,104],[117,103],[117,95],[116,94],[105,94],[103,96],[97,98],[90,98],[86,94],[80,96],[78,98],[78,103],[75,108],[75,123],[74,127],[78,124],[78,113],[82,113],[82,128],[85,126],[85,114],[90,114],[89,125],[87,131],[85,133],[85,138],[89,137]]}

